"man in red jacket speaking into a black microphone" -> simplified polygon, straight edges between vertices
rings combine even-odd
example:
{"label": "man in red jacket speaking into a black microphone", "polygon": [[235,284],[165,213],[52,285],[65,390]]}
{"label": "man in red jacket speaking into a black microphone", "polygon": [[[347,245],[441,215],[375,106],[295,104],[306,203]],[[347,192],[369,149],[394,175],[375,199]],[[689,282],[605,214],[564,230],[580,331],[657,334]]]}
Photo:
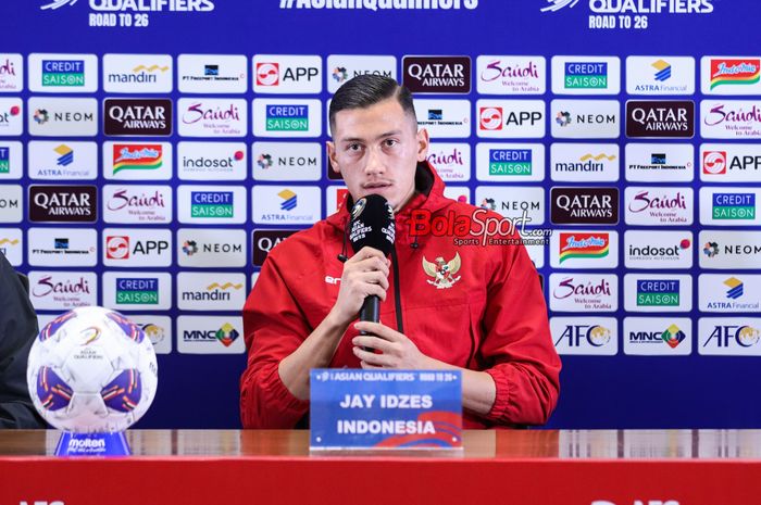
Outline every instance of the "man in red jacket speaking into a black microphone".
{"label": "man in red jacket speaking into a black microphone", "polygon": [[[349,80],[333,98],[329,121],[328,155],[351,198],[278,244],[262,266],[244,307],[244,427],[297,426],[309,409],[310,369],[328,367],[461,369],[464,428],[546,422],[560,359],[525,248],[412,232],[413,211],[486,211],[444,197],[426,162],[428,134],[417,129],[412,97],[395,80]],[[364,248],[342,263],[349,210],[371,193],[396,214],[391,260]],[[371,294],[382,301],[378,324],[357,320]]]}

